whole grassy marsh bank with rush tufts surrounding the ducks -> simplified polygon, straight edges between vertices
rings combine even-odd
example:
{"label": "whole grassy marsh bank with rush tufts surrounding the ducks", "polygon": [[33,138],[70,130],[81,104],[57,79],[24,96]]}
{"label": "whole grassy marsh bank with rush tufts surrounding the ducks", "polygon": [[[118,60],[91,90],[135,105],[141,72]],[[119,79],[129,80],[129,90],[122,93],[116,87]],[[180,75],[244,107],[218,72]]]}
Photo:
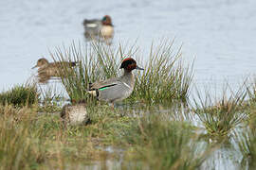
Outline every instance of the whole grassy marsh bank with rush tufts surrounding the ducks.
{"label": "whole grassy marsh bank with rush tufts surrounding the ducks", "polygon": [[[238,168],[255,166],[255,83],[220,99],[191,99],[192,64],[184,64],[174,42],[152,44],[148,60],[127,46],[73,43],[51,52],[56,61],[78,62],[63,66],[61,82],[71,105],[86,101],[86,125],[63,124],[64,96],[54,91],[27,84],[0,93],[1,169],[204,169],[223,148],[242,158],[231,161]],[[124,57],[145,70],[113,110],[86,91],[89,82],[119,76]]]}

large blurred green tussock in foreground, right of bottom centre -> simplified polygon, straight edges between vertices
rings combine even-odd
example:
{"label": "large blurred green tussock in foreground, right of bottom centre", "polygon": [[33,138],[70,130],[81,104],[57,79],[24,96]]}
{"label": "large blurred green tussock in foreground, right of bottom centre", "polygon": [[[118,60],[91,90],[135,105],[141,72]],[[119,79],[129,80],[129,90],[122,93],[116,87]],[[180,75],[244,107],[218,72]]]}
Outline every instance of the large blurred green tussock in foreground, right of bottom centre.
{"label": "large blurred green tussock in foreground, right of bottom centre", "polygon": [[195,127],[186,122],[170,121],[167,117],[152,114],[139,119],[138,145],[134,150],[139,161],[134,166],[138,169],[199,168],[210,154],[210,146],[200,142]]}

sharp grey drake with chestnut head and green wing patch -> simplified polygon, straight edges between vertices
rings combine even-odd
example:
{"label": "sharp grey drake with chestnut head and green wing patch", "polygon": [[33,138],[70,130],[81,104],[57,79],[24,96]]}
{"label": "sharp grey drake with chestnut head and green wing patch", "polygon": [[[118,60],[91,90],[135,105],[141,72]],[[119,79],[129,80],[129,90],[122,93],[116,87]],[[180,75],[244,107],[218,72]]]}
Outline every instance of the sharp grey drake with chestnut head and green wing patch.
{"label": "sharp grey drake with chestnut head and green wing patch", "polygon": [[133,70],[144,70],[137,66],[137,61],[132,58],[123,59],[119,69],[123,69],[123,75],[103,81],[89,83],[88,93],[96,96],[98,100],[112,104],[121,101],[131,95],[135,87]]}

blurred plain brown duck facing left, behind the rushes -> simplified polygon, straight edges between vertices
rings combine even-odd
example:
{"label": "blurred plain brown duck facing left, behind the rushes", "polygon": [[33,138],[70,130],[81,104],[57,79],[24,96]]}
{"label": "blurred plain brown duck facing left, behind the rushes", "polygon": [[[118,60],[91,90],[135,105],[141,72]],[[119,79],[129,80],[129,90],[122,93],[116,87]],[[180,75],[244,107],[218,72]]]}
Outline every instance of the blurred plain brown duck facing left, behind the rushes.
{"label": "blurred plain brown duck facing left, behind the rushes", "polygon": [[49,62],[47,59],[41,58],[37,60],[37,64],[32,69],[38,67],[39,82],[46,83],[51,76],[64,76],[62,68],[71,68],[76,64],[77,62],[69,61]]}

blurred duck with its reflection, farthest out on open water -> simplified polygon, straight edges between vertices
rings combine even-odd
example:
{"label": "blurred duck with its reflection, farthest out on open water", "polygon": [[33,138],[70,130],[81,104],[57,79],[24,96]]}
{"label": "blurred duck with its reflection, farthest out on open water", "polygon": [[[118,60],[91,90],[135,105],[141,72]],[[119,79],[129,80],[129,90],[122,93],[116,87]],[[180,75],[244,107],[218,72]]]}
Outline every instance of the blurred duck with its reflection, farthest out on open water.
{"label": "blurred duck with its reflection, farthest out on open water", "polygon": [[103,40],[112,39],[114,36],[114,26],[111,17],[105,15],[101,20],[83,20],[85,29],[84,36],[87,39],[95,39],[96,37],[103,38]]}

